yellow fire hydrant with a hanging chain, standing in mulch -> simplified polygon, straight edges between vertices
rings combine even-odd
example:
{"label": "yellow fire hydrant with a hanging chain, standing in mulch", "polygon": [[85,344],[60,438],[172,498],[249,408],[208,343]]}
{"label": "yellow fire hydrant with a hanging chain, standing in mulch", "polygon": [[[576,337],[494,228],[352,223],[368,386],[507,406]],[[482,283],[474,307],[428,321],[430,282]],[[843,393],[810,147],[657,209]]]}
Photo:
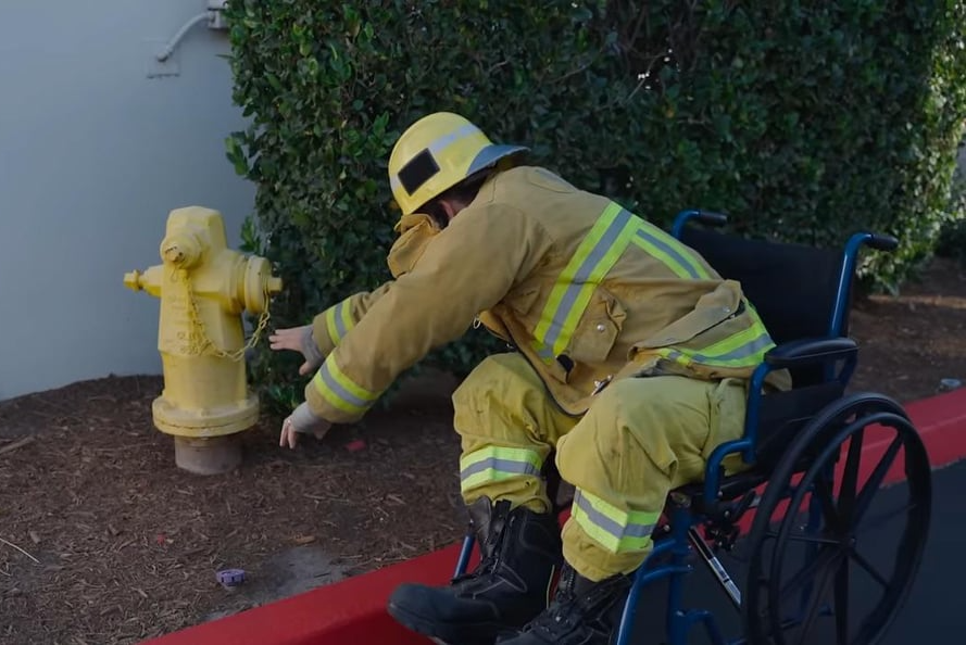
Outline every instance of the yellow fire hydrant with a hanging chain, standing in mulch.
{"label": "yellow fire hydrant with a hanging chain, standing in mulch", "polygon": [[[164,390],[152,405],[154,426],[174,437],[178,467],[225,472],[241,463],[238,433],[259,418],[244,354],[265,329],[269,294],[281,291],[281,279],[267,260],[228,249],[217,211],[172,211],[165,233],[162,264],[124,276],[126,287],[161,300]],[[261,315],[248,343],[246,309]]]}

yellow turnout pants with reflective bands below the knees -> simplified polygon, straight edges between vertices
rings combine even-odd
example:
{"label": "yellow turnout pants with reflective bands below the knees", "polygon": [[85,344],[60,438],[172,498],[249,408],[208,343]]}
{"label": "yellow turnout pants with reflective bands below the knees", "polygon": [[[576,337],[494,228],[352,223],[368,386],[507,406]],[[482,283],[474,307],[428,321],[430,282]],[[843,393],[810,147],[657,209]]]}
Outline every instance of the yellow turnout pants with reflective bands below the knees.
{"label": "yellow turnout pants with reflective bands below the knees", "polygon": [[745,382],[675,376],[625,379],[582,418],[563,414],[518,354],[484,361],[453,394],[463,498],[551,508],[541,469],[576,488],[564,558],[593,581],[637,569],[667,493],[700,481],[711,452],[741,435]]}

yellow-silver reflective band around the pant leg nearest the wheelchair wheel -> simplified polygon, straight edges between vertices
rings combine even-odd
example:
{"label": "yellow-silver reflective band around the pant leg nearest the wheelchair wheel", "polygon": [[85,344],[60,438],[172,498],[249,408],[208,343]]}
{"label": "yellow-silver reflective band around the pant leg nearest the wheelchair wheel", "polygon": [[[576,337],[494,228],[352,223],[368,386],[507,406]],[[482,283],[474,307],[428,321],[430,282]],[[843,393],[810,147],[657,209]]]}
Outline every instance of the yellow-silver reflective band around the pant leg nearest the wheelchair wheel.
{"label": "yellow-silver reflective band around the pant leg nearest the wheelchair wheel", "polygon": [[651,533],[661,519],[660,511],[620,510],[579,489],[574,494],[573,516],[585,533],[611,553],[649,549]]}

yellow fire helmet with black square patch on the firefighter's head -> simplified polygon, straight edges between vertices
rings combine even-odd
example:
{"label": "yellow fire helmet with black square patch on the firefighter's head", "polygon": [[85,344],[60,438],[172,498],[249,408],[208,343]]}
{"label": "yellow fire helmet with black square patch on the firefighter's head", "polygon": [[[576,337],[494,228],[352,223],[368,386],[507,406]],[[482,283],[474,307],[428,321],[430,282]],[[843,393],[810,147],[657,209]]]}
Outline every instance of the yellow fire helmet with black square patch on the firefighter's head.
{"label": "yellow fire helmet with black square patch on the firefighter's head", "polygon": [[389,155],[389,186],[403,215],[410,215],[471,175],[527,150],[497,146],[459,114],[436,112],[411,125],[396,142]]}

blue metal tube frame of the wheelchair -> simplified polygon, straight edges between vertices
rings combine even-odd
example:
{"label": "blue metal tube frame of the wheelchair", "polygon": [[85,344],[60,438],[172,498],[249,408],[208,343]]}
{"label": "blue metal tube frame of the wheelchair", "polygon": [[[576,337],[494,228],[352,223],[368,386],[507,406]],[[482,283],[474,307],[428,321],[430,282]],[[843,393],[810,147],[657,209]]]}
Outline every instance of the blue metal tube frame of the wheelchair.
{"label": "blue metal tube frame of the wheelchair", "polygon": [[[691,223],[698,222],[707,226],[722,226],[727,223],[724,215],[708,213],[698,210],[687,210],[678,213],[672,228],[672,236],[680,239],[685,227]],[[845,244],[842,256],[842,265],[839,271],[837,286],[837,294],[832,313],[830,316],[827,337],[817,339],[802,339],[783,343],[774,347],[766,361],[758,365],[755,369],[749,387],[749,397],[747,404],[747,414],[744,422],[744,431],[741,439],[728,441],[719,445],[712,452],[708,457],[705,478],[703,484],[703,499],[717,499],[723,477],[723,463],[730,455],[741,455],[747,465],[753,465],[756,460],[757,450],[757,432],[760,420],[760,408],[762,404],[762,391],[765,378],[775,369],[780,369],[783,364],[781,362],[769,362],[770,355],[779,355],[783,351],[794,357],[803,351],[807,351],[810,343],[815,341],[827,341],[830,339],[841,338],[843,321],[848,312],[850,298],[850,289],[852,277],[855,273],[855,265],[858,252],[863,245],[870,245],[877,249],[894,248],[896,241],[894,238],[887,236],[878,236],[869,232],[860,232],[853,235]],[[832,372],[831,366],[826,368],[826,380],[839,379],[844,385],[854,371],[856,357],[849,354],[844,357],[845,365],[838,375]],[[765,482],[763,482],[765,483]],[[712,547],[698,532],[698,527],[707,521],[707,517],[703,514],[695,513],[687,496],[672,491],[669,495],[669,504],[667,505],[668,532],[663,536],[655,539],[654,548],[648,558],[638,568],[633,574],[633,582],[624,606],[624,612],[620,620],[620,627],[617,635],[617,645],[628,645],[633,629],[635,615],[637,612],[641,591],[649,584],[661,580],[668,580],[668,602],[666,615],[667,645],[687,645],[688,634],[693,627],[701,623],[704,625],[708,637],[715,645],[744,645],[748,641],[744,637],[735,640],[725,640],[718,628],[714,615],[705,609],[685,609],[683,608],[683,578],[693,571],[693,567],[688,564],[692,548],[698,553],[705,562],[712,574],[718,581],[725,591],[731,604],[736,609],[741,609],[741,592],[738,585],[731,580],[725,567],[714,555]],[[820,526],[821,517],[818,505],[814,502],[808,509],[808,527],[817,529]],[[456,564],[455,574],[462,574],[468,564],[473,552],[474,538],[467,535],[463,542],[460,557]],[[661,560],[664,564],[654,565]]]}

